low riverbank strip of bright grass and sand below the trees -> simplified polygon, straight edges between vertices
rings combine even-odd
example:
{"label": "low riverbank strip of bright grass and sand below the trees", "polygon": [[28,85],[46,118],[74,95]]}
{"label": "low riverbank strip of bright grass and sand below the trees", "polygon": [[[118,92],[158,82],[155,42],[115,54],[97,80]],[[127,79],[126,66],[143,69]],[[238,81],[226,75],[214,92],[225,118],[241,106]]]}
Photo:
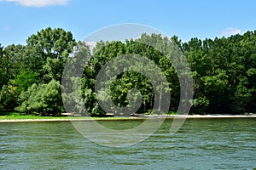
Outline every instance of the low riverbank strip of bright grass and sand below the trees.
{"label": "low riverbank strip of bright grass and sand below the trees", "polygon": [[249,115],[170,115],[170,116],[0,116],[0,122],[69,122],[69,121],[117,121],[117,120],[145,120],[148,118],[186,118],[186,119],[216,119],[216,118],[256,118],[256,114]]}

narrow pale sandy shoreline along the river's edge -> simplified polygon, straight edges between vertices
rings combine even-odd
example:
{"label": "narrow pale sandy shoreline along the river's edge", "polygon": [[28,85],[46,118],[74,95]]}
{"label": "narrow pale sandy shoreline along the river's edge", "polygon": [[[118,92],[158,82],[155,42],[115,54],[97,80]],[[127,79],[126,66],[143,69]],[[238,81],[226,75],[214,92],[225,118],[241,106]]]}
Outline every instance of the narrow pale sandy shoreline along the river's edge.
{"label": "narrow pale sandy shoreline along the river's edge", "polygon": [[224,118],[256,118],[256,114],[252,115],[172,115],[172,116],[130,116],[130,117],[83,117],[83,118],[52,118],[52,119],[2,119],[1,122],[86,122],[86,121],[129,121],[129,120],[146,120],[146,119],[224,119]]}

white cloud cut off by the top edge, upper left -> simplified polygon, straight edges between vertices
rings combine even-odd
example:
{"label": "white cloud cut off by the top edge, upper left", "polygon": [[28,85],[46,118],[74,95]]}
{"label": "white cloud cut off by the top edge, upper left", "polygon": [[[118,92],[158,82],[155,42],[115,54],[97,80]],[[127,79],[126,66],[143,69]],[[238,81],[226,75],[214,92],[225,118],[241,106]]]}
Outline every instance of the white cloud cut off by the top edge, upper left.
{"label": "white cloud cut off by the top edge, upper left", "polygon": [[26,7],[46,7],[50,5],[66,5],[68,2],[68,0],[5,0],[5,1],[19,3],[20,5],[26,6]]}

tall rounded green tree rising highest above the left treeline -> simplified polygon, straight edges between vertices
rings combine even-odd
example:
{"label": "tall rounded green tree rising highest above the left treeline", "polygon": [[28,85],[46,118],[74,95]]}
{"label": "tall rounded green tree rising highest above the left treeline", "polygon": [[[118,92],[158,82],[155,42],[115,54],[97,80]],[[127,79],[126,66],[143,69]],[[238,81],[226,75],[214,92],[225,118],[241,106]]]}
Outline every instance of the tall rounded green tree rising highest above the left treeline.
{"label": "tall rounded green tree rising highest above the left treeline", "polygon": [[39,73],[43,82],[52,78],[61,81],[61,73],[68,55],[76,44],[70,31],[50,27],[26,40],[26,63],[30,70]]}

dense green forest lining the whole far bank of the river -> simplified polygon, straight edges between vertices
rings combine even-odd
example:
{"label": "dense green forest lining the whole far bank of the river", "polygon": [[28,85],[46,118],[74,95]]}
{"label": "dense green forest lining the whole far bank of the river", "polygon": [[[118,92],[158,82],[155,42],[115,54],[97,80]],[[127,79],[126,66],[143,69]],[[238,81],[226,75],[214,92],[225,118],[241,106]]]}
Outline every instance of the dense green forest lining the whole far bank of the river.
{"label": "dense green forest lining the whole far bank of the river", "polygon": [[[193,78],[190,114],[256,112],[256,31],[213,40],[194,37],[189,42],[182,42],[177,36],[142,34],[125,42],[97,42],[91,50],[85,42],[76,41],[71,31],[50,27],[32,34],[25,45],[3,47],[0,43],[0,112],[58,116],[68,112],[63,105],[66,99],[74,112],[102,116],[106,111],[102,110],[98,98],[110,98],[114,105],[126,107],[131,105],[131,100],[137,101],[141,96],[136,113],[150,113],[154,105],[154,86],[137,71],[124,71],[108,82],[110,95],[96,94],[96,77],[102,66],[125,54],[127,60],[129,54],[134,54],[145,56],[158,65],[167,81],[164,90],[171,94],[169,113],[175,112],[181,93],[177,71],[166,59],[166,54],[148,44],[163,49],[175,44],[187,59]],[[79,52],[74,53],[77,47]],[[80,59],[79,54],[86,56],[87,65],[84,65],[81,78],[70,73],[71,80],[81,86],[79,91],[69,92],[74,95],[69,95],[61,90],[64,86],[62,73],[67,60],[72,58],[75,62]],[[154,67],[151,70],[154,71]],[[108,79],[108,72],[106,74]],[[129,99],[129,91],[134,88],[137,91],[133,99]],[[74,98],[76,93],[82,98]]]}

